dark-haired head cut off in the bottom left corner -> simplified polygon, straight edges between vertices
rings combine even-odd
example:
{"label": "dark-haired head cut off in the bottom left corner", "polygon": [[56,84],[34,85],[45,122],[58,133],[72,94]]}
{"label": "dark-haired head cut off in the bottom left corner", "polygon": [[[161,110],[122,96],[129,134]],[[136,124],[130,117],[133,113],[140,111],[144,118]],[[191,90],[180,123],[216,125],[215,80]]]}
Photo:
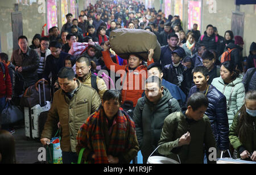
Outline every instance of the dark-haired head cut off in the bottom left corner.
{"label": "dark-haired head cut off in the bottom left corner", "polygon": [[0,154],[2,155],[0,164],[16,163],[14,137],[5,130],[0,130]]}

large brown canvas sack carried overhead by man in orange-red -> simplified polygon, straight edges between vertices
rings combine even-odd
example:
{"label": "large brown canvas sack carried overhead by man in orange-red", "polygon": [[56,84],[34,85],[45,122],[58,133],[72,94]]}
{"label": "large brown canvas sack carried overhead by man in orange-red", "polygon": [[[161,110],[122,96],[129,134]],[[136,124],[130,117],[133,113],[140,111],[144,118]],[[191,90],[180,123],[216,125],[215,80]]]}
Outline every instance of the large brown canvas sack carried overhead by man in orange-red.
{"label": "large brown canvas sack carried overhead by man in orange-red", "polygon": [[110,47],[122,59],[129,59],[131,53],[138,54],[147,61],[149,49],[154,49],[154,61],[159,61],[161,48],[152,32],[139,29],[121,28],[110,32]]}

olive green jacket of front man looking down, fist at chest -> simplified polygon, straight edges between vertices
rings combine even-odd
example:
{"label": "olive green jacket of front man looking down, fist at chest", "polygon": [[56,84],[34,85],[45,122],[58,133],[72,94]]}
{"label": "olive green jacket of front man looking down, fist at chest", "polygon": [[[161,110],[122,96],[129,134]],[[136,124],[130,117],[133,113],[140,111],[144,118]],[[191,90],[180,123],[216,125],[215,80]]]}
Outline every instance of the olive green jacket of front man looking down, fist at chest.
{"label": "olive green jacket of front man looking down, fist at chest", "polygon": [[[179,138],[187,132],[191,135],[190,144],[178,147]],[[166,155],[166,157],[177,162],[179,162],[177,157],[179,155],[181,164],[203,164],[204,149],[208,158],[209,148],[216,148],[216,141],[208,116],[204,115],[203,119],[196,122],[187,119],[181,112],[172,113],[164,120],[158,144],[160,145],[158,148],[160,154]],[[216,162],[208,161],[208,163]]]}

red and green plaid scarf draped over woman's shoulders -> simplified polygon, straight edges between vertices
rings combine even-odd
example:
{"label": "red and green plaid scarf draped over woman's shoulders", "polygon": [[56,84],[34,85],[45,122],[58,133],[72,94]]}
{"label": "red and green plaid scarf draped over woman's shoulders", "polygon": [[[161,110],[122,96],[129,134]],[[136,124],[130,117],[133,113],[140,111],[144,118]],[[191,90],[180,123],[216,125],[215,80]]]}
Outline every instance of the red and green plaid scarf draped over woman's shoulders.
{"label": "red and green plaid scarf draped over woman's shoulders", "polygon": [[112,132],[109,134],[103,107],[89,116],[77,136],[78,143],[89,149],[85,152],[84,157],[93,153],[95,154],[94,163],[108,164],[108,155],[118,157],[134,147],[136,135],[133,120],[121,109],[114,120],[116,124],[112,126]]}

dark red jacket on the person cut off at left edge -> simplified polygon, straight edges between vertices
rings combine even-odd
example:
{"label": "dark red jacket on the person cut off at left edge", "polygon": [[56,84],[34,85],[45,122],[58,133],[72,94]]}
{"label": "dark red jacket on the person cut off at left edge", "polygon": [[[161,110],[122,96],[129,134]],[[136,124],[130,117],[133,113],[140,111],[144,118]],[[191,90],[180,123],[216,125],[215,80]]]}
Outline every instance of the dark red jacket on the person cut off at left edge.
{"label": "dark red jacket on the person cut off at left edge", "polygon": [[[3,74],[1,64],[5,66],[5,77]],[[11,89],[11,78],[9,75],[9,69],[7,65],[0,62],[0,98],[2,97],[11,98],[12,94],[13,94],[13,90]]]}

